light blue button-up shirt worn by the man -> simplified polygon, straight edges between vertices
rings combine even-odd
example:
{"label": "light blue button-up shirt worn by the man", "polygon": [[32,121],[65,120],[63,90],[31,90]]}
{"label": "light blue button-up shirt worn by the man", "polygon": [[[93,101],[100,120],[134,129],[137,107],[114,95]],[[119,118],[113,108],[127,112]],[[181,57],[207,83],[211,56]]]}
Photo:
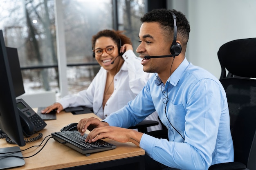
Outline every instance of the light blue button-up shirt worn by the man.
{"label": "light blue button-up shirt worn by the man", "polygon": [[154,160],[188,170],[234,161],[226,93],[208,71],[185,58],[165,85],[153,75],[134,100],[104,121],[127,128],[155,110],[169,141],[142,136],[140,147]]}

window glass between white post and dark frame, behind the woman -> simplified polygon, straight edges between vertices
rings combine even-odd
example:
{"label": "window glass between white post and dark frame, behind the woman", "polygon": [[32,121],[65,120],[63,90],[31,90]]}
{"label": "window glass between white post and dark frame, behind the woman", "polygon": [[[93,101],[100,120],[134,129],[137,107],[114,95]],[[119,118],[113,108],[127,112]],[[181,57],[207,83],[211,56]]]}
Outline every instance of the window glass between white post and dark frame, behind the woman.
{"label": "window glass between white post and dark frame, behind the woman", "polygon": [[[92,57],[92,35],[113,28],[112,0],[63,0],[67,64],[97,63]],[[67,70],[68,94],[87,88],[99,65],[72,66]]]}

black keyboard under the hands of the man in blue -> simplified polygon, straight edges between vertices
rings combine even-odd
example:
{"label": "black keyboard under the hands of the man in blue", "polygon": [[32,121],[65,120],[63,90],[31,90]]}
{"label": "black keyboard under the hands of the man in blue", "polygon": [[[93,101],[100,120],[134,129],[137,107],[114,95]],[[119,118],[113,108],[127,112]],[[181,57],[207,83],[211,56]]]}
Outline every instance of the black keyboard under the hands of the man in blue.
{"label": "black keyboard under the hands of the man in blue", "polygon": [[61,144],[65,144],[82,154],[90,154],[93,152],[101,152],[101,151],[111,150],[116,148],[115,145],[110,144],[101,139],[97,140],[94,143],[85,142],[85,138],[87,137],[87,134],[81,136],[80,132],[76,130],[54,132],[52,133],[52,137],[56,141],[60,142]]}

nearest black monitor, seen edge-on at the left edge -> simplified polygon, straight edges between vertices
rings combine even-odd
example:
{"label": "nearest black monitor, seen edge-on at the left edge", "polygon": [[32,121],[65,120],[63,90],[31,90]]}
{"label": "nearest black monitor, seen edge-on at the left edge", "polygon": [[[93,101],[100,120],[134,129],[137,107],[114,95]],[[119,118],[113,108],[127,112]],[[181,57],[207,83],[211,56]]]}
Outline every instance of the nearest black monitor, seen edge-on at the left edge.
{"label": "nearest black monitor, seen edge-on at the left edge", "polygon": [[0,30],[0,129],[16,144],[25,146],[10,62],[4,43],[3,32]]}

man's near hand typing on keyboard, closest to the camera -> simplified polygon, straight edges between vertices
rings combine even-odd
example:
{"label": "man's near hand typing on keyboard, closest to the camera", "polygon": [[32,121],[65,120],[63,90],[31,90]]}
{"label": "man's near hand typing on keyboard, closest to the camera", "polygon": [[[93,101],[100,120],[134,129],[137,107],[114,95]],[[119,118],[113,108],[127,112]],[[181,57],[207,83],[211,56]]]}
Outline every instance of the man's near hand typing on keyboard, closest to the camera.
{"label": "man's near hand typing on keyboard, closest to the camera", "polygon": [[139,146],[143,133],[137,132],[136,130],[119,128],[114,126],[104,126],[94,128],[85,139],[86,142],[95,142],[98,139],[109,138],[118,142],[132,142]]}

